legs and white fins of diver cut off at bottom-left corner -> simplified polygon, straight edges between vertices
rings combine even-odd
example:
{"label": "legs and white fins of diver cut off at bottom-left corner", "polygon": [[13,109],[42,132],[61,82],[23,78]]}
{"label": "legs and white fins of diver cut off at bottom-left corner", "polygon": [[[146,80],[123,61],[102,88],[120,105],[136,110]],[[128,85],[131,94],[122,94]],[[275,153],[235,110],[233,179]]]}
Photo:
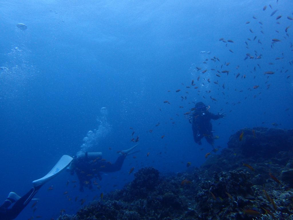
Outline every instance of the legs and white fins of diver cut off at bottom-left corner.
{"label": "legs and white fins of diver cut off at bottom-left corner", "polygon": [[[51,180],[62,170],[64,170],[67,165],[73,160],[72,157],[68,155],[63,155],[57,164],[52,168],[50,172],[44,177],[33,181],[33,188],[30,189],[23,197],[20,197],[15,192],[10,192],[7,199],[0,206],[0,219],[1,220],[11,220],[15,219],[21,211],[28,205],[28,203],[33,199],[34,195],[47,181]],[[10,205],[15,203],[11,208]]]}

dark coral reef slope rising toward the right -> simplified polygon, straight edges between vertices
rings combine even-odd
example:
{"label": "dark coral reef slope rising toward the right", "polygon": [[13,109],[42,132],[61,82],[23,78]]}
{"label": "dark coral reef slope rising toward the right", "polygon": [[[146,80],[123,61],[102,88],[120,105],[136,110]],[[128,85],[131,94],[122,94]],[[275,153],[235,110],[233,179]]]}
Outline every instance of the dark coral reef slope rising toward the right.
{"label": "dark coral reef slope rising toward the right", "polygon": [[293,130],[253,130],[236,132],[227,148],[192,172],[161,176],[142,168],[105,202],[59,220],[293,219]]}

